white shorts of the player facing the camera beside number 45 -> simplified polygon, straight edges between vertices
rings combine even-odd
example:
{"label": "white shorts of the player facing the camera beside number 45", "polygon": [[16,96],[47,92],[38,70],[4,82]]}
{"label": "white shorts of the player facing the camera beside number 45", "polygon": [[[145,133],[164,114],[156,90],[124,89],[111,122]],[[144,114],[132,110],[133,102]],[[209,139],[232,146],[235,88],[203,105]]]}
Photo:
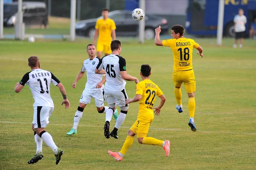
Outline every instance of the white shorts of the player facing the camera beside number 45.
{"label": "white shorts of the player facing the camera beside number 45", "polygon": [[92,97],[95,100],[95,105],[97,108],[104,106],[105,98],[103,89],[94,91],[84,89],[79,102],[87,105],[88,103],[90,103]]}

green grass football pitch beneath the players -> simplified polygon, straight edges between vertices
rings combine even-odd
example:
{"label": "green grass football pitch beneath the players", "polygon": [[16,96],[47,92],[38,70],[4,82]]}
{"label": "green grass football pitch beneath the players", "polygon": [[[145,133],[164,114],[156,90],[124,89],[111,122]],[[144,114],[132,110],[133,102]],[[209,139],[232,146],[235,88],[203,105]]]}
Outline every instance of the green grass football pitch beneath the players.
{"label": "green grass football pitch beneath the players", "polygon": [[[128,74],[139,79],[140,65],[151,65],[151,80],[167,98],[148,136],[171,141],[168,158],[162,147],[139,144],[136,138],[121,162],[108,155],[108,150],[121,149],[128,128],[136,120],[138,103],[130,105],[119,130],[119,139],[105,139],[105,114],[96,111],[94,100],[84,109],[77,135],[66,135],[73,126],[86,77],[78,82],[76,89],[71,85],[87,58],[86,45],[90,40],[36,40],[35,43],[3,40],[0,41],[0,169],[255,170],[256,41],[245,40],[243,48],[233,49],[233,39],[224,39],[223,46],[217,47],[215,39],[195,38],[204,48],[202,59],[193,51],[197,132],[192,132],[188,126],[188,97],[184,87],[183,113],[175,109],[172,51],[155,46],[153,41],[146,41],[144,45],[134,41],[121,40],[121,56],[126,59]],[[51,86],[55,110],[47,131],[65,151],[59,165],[55,165],[55,156],[46,144],[43,144],[44,159],[27,164],[36,150],[31,129],[34,100],[28,86],[15,94],[14,85],[30,71],[27,59],[32,55],[39,57],[42,69],[52,71],[61,80],[71,104],[65,110],[60,105],[61,93]],[[129,97],[134,96],[134,88],[134,82],[127,82]],[[159,102],[157,99],[155,105]],[[111,129],[114,124],[112,119]]]}

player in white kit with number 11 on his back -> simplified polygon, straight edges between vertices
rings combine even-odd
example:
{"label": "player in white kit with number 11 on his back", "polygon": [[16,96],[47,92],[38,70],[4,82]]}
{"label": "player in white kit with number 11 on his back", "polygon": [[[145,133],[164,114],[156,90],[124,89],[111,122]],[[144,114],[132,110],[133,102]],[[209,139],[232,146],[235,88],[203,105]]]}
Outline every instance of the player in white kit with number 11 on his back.
{"label": "player in white kit with number 11 on his back", "polygon": [[56,164],[61,161],[63,150],[59,149],[53,142],[52,136],[44,130],[49,123],[49,117],[54,109],[53,101],[50,95],[50,84],[54,84],[59,88],[63,96],[61,105],[65,104],[65,108],[70,107],[67,95],[62,83],[49,71],[40,69],[39,59],[36,56],[29,57],[29,66],[32,71],[26,73],[20,82],[15,85],[15,92],[19,93],[24,85],[28,84],[35,99],[34,119],[32,122],[32,130],[34,131],[36,153],[35,156],[28,161],[29,164],[35,164],[44,157],[42,153],[43,141],[55,153]]}

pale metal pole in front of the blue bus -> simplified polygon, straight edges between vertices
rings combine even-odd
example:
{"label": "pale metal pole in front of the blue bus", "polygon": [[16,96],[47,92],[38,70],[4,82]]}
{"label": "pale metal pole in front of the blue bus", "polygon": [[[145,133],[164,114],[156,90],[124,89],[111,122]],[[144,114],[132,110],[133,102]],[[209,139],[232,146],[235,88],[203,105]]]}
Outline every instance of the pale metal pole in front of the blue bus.
{"label": "pale metal pole in front of the blue bus", "polygon": [[218,27],[217,27],[217,45],[222,44],[223,20],[224,20],[224,0],[219,0],[218,6]]}

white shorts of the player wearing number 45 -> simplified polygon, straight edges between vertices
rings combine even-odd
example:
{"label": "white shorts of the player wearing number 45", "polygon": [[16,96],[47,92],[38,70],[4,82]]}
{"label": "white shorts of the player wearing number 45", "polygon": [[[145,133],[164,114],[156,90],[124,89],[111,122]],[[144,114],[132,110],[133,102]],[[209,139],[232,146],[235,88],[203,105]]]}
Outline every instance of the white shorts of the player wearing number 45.
{"label": "white shorts of the player wearing number 45", "polygon": [[128,104],[125,105],[125,99],[128,99],[125,88],[122,91],[108,91],[107,89],[104,89],[104,91],[108,105],[116,103],[116,106],[119,107],[128,106]]}

